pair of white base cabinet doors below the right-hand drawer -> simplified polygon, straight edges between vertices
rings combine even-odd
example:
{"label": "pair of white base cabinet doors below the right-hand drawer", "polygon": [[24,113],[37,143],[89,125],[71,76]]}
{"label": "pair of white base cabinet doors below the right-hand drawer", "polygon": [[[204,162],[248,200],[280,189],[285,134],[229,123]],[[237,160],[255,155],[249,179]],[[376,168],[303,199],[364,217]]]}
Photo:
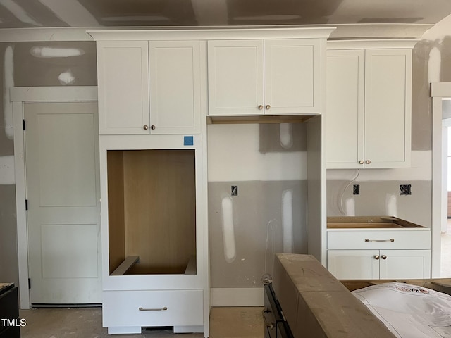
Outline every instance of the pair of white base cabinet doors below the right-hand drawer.
{"label": "pair of white base cabinet doors below the right-hand drawer", "polygon": [[430,250],[329,250],[328,270],[339,280],[428,278]]}

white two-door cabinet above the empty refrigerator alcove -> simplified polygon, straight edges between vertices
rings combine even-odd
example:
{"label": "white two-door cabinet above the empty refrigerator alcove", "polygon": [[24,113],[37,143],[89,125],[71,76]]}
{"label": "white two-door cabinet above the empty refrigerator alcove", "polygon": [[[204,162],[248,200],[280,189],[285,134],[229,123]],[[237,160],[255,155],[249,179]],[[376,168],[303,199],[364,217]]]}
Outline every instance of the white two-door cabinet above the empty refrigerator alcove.
{"label": "white two-door cabinet above the empty refrigerator alcove", "polygon": [[321,39],[209,41],[209,115],[321,113],[321,48]]}

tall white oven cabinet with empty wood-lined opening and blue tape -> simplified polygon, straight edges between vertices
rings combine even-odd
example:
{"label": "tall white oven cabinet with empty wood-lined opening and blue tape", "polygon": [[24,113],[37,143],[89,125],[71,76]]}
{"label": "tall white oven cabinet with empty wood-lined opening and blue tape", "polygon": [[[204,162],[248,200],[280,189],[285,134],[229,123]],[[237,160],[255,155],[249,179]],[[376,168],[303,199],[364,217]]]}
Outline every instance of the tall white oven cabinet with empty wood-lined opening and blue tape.
{"label": "tall white oven cabinet with empty wood-lined opening and blue tape", "polygon": [[91,34],[103,325],[110,334],[171,326],[209,337],[205,42]]}

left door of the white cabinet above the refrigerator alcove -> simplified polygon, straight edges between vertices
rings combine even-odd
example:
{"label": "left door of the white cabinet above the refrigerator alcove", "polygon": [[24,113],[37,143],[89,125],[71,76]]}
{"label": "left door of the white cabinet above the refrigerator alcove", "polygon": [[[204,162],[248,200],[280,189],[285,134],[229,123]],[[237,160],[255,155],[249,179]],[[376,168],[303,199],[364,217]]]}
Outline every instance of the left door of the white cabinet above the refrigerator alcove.
{"label": "left door of the white cabinet above the refrigerator alcove", "polygon": [[209,115],[263,114],[263,65],[263,40],[209,41]]}

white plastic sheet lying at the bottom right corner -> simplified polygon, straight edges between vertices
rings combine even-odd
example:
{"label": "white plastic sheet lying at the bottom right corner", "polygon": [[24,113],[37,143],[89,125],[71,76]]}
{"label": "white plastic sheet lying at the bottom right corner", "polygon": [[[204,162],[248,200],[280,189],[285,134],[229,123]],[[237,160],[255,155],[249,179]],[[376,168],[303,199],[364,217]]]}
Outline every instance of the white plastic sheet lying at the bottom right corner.
{"label": "white plastic sheet lying at the bottom right corner", "polygon": [[405,283],[352,292],[396,337],[451,337],[451,296]]}

